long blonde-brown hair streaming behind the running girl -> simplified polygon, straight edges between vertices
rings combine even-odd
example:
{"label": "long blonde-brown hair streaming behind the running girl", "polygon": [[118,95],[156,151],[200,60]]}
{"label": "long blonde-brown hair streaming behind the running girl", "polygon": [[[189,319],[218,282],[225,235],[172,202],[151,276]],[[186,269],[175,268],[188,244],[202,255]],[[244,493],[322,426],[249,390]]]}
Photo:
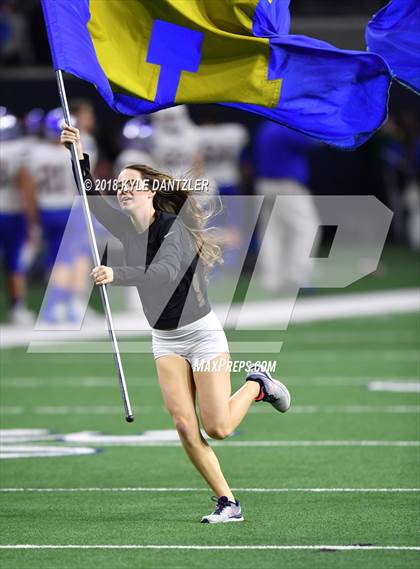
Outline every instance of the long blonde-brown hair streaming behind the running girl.
{"label": "long blonde-brown hair streaming behind the running girl", "polygon": [[[209,220],[217,213],[216,208],[207,207],[206,209],[199,203],[193,190],[184,189],[183,180],[173,178],[151,166],[131,164],[125,166],[124,170],[139,172],[143,180],[150,181],[151,188],[155,188],[157,184],[154,180],[158,180],[159,187],[154,190],[153,207],[158,211],[180,216],[194,239],[195,247],[207,272],[216,264],[223,263],[219,231],[215,227],[208,226]],[[167,182],[171,183],[167,184]],[[214,204],[214,200],[211,202]]]}

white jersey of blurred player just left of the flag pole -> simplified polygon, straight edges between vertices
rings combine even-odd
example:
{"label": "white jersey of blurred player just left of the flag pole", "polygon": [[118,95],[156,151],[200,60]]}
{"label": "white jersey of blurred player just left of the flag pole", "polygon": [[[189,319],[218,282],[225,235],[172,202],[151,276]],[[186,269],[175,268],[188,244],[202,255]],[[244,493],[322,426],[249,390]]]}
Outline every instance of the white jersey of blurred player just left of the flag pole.
{"label": "white jersey of blurred player just left of the flag pole", "polygon": [[29,154],[28,168],[44,210],[69,209],[77,195],[69,151],[60,144],[41,141]]}

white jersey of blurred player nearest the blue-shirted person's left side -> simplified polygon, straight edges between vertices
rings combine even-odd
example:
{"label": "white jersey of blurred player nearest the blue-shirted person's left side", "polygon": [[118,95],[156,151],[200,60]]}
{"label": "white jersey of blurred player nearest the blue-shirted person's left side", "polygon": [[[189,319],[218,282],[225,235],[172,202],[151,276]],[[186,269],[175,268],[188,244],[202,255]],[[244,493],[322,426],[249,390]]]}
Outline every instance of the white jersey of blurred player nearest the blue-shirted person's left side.
{"label": "white jersey of blurred player nearest the blue-shirted person's left side", "polygon": [[239,184],[239,157],[248,142],[248,131],[241,124],[212,124],[198,127],[204,170],[219,186]]}

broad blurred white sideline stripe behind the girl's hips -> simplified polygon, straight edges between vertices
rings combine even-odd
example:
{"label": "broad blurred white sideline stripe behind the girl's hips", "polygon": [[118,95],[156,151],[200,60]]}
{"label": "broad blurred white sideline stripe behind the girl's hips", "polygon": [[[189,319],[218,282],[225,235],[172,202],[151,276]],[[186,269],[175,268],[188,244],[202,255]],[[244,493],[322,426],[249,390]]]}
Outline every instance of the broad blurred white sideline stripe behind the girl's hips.
{"label": "broad blurred white sideline stripe behind the girl's hips", "polygon": [[[291,323],[319,322],[344,318],[357,318],[367,316],[384,316],[388,314],[409,314],[417,312],[420,308],[420,290],[417,288],[397,289],[389,291],[374,291],[368,293],[350,293],[341,295],[328,295],[316,298],[299,298],[294,306]],[[222,317],[226,328],[230,323],[237,324],[243,329],[258,329],[267,326],[280,326],[287,322],[290,316],[291,303],[288,299],[246,302],[244,305],[215,305],[214,310]],[[230,311],[229,311],[230,309]],[[229,319],[224,322],[223,315],[229,312]],[[120,338],[133,338],[150,336],[146,321],[139,315],[115,314],[114,322],[117,335]],[[374,332],[373,332],[374,334]],[[63,351],[73,352],[109,352],[109,342],[103,318],[98,314],[94,323],[86,323],[81,330],[50,330],[34,331],[17,328],[11,325],[0,327],[0,344],[3,348],[17,346],[27,347],[30,351],[46,352],[52,347],[59,347],[57,343],[63,342]],[[105,341],[91,342],[86,340],[103,339]],[[77,345],[75,345],[77,344]],[[267,346],[278,352],[281,342],[241,342],[238,350],[249,353],[266,353]],[[60,348],[60,349],[61,349]],[[150,352],[150,341],[121,342],[121,348],[127,352]],[[239,352],[238,352],[239,353]]]}

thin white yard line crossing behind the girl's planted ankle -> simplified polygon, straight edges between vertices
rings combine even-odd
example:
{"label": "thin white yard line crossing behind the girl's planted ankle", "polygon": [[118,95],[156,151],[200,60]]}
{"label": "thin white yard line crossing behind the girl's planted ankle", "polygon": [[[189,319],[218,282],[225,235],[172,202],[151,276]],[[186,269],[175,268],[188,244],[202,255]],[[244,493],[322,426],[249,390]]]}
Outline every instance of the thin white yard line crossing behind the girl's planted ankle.
{"label": "thin white yard line crossing behind the girl's planted ankle", "polygon": [[[232,488],[235,492],[252,493],[271,493],[278,494],[283,492],[303,492],[303,493],[401,493],[420,492],[420,488]],[[40,492],[40,493],[60,493],[60,492],[209,492],[208,488],[147,488],[147,487],[126,487],[126,488],[0,488],[0,492]]]}

